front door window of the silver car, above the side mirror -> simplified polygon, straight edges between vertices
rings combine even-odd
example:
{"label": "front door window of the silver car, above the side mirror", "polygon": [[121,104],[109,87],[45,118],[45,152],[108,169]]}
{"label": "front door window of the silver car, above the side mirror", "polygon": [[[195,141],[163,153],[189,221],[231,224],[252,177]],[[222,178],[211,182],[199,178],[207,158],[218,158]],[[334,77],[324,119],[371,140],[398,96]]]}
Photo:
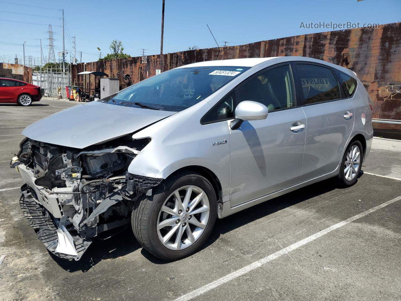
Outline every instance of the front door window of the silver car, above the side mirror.
{"label": "front door window of the silver car, above the side mirror", "polygon": [[295,106],[294,84],[289,65],[270,69],[238,89],[239,101],[264,104],[269,112]]}

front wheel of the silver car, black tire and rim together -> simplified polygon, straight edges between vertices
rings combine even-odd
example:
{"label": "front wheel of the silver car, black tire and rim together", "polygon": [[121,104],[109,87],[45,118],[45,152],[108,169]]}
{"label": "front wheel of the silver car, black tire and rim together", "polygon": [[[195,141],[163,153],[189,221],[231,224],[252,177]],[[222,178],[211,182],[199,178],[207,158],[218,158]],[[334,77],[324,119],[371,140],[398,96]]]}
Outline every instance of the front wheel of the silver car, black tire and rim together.
{"label": "front wheel of the silver car, black tire and rim together", "polygon": [[[181,198],[181,203],[178,203],[178,197],[175,197],[176,191]],[[188,207],[184,209],[179,204],[186,204],[185,195],[188,194],[188,191],[190,191],[190,198]],[[194,205],[196,197],[199,201]],[[194,206],[192,207],[192,205]],[[208,211],[195,213],[206,210],[208,205]],[[184,210],[179,213],[179,208]],[[163,211],[165,209],[168,209],[167,211],[170,213],[175,213],[168,214]],[[187,209],[190,210],[185,216]],[[194,214],[191,215],[191,212]],[[132,211],[131,224],[135,238],[150,254],[164,260],[178,260],[189,256],[205,243],[213,229],[216,216],[217,197],[213,186],[202,175],[190,172],[180,173],[166,179],[152,189],[150,196],[142,195],[136,201]],[[168,225],[158,228],[161,222],[168,222]],[[199,228],[194,223],[204,228]],[[173,230],[171,238],[163,243],[162,240],[165,240]],[[178,234],[182,234],[182,236],[177,239]]]}

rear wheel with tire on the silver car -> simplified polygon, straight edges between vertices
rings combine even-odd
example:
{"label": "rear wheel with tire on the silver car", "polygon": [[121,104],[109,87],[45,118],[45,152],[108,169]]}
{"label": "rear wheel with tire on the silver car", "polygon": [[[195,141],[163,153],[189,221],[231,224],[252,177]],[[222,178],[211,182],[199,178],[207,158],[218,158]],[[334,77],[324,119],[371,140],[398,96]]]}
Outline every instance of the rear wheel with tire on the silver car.
{"label": "rear wheel with tire on the silver car", "polygon": [[[354,158],[350,157],[350,154],[353,154],[353,150],[355,150]],[[337,176],[339,187],[350,187],[358,181],[358,175],[363,162],[363,152],[363,146],[358,140],[348,145],[341,160],[340,172]],[[349,158],[352,160],[349,160]]]}

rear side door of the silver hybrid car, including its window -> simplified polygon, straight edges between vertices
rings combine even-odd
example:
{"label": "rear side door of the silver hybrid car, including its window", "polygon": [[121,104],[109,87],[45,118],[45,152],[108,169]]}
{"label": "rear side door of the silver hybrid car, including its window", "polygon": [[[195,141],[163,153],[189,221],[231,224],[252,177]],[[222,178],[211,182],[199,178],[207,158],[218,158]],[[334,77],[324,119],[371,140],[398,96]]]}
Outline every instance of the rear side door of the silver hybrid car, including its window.
{"label": "rear side door of the silver hybrid car, including its window", "polygon": [[304,62],[294,65],[306,116],[303,182],[337,168],[354,125],[354,107],[330,67]]}

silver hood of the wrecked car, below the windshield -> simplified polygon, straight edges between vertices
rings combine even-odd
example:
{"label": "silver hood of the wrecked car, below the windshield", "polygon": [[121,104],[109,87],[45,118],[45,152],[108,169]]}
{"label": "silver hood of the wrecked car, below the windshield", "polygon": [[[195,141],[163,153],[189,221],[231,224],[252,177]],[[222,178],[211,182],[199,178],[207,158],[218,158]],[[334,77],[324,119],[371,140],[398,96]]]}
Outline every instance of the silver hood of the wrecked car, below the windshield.
{"label": "silver hood of the wrecked car, below the windshield", "polygon": [[38,120],[22,134],[45,143],[85,148],[130,134],[174,113],[89,102]]}

